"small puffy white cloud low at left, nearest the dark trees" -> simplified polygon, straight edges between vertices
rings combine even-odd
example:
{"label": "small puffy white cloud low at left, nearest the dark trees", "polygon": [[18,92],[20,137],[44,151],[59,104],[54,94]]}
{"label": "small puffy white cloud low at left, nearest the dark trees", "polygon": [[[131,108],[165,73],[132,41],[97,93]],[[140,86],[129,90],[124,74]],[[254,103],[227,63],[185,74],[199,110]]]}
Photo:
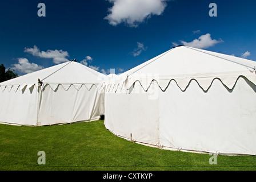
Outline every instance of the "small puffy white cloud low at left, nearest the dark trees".
{"label": "small puffy white cloud low at left, nearest the dark trees", "polygon": [[30,63],[28,59],[23,57],[18,59],[18,64],[13,64],[12,66],[13,67],[11,67],[11,69],[14,69],[21,73],[32,73],[43,69],[41,65]]}

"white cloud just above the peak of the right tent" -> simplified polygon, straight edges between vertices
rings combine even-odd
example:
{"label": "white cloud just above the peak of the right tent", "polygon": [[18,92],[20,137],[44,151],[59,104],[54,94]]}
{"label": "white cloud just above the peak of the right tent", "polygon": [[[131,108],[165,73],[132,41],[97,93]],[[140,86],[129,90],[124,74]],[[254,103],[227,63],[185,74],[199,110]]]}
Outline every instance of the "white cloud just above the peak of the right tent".
{"label": "white cloud just above the peak of the right tent", "polygon": [[[199,49],[209,48],[209,47],[214,46],[215,44],[221,43],[221,42],[223,42],[222,39],[219,39],[219,40],[211,39],[211,34],[201,35],[201,36],[199,36],[198,39],[194,39],[192,42],[185,42],[185,41],[181,40],[181,43],[184,46],[189,46],[189,47],[194,47],[194,48],[199,48]],[[177,43],[173,43],[173,45],[177,46]]]}

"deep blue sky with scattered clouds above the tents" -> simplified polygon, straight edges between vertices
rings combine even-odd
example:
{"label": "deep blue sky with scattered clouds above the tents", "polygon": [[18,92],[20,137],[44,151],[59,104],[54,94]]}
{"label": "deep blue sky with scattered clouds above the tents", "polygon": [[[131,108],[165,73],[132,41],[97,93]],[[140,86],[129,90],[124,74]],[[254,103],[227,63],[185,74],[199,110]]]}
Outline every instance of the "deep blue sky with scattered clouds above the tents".
{"label": "deep blue sky with scattered clouds above the tents", "polygon": [[[39,3],[46,16],[38,16]],[[120,73],[177,44],[255,61],[255,7],[249,0],[3,0],[0,64],[24,75],[77,59]]]}

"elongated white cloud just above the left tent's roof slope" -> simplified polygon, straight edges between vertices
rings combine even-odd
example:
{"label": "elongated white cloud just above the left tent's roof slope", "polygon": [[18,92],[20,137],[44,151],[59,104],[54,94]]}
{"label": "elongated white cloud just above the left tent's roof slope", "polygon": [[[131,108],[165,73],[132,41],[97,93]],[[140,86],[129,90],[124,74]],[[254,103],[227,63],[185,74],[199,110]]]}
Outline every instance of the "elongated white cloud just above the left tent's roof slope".
{"label": "elongated white cloud just above the left tent's roof slope", "polygon": [[40,49],[37,46],[34,46],[33,48],[25,48],[24,52],[31,53],[33,56],[43,57],[43,58],[50,58],[53,59],[53,63],[59,64],[66,61],[69,61],[66,59],[66,57],[69,56],[69,53],[67,51],[62,50],[47,50],[40,51]]}

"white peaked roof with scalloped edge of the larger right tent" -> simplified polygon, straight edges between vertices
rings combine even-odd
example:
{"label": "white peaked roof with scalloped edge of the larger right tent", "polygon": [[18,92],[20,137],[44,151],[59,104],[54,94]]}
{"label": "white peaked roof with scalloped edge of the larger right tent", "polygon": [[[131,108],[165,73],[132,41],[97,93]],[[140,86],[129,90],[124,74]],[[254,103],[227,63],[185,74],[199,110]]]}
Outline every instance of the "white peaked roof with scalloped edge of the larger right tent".
{"label": "white peaked roof with scalloped edge of the larger right tent", "polygon": [[123,81],[127,79],[127,89],[139,81],[143,89],[147,90],[155,80],[165,90],[169,82],[175,80],[179,88],[185,90],[191,80],[196,80],[203,90],[207,90],[213,80],[218,78],[231,89],[240,76],[245,76],[256,85],[255,66],[255,61],[178,46],[122,73],[115,87],[123,86]]}

